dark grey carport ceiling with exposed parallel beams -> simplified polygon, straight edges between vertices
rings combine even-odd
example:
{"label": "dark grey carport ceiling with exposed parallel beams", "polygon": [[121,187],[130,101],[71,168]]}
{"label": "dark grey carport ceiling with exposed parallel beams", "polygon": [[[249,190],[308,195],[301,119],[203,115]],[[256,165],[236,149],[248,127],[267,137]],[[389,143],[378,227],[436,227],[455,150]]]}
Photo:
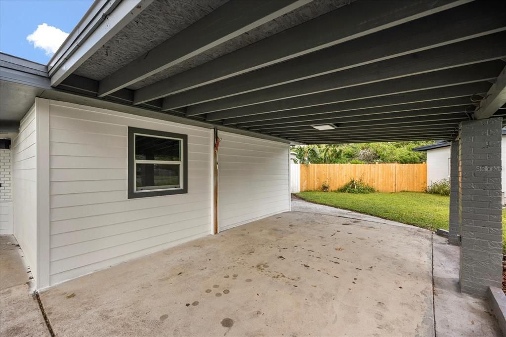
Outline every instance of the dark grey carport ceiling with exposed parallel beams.
{"label": "dark grey carport ceiling with exposed parallel beams", "polygon": [[453,139],[506,115],[505,2],[146,5],[53,85],[303,143]]}

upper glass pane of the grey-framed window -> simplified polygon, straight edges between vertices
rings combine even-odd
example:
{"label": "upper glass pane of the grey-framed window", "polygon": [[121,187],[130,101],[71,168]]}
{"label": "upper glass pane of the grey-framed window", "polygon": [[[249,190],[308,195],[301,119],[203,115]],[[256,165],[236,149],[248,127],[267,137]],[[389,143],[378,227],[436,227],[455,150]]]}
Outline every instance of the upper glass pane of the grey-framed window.
{"label": "upper glass pane of the grey-framed window", "polygon": [[181,141],[177,139],[135,136],[135,158],[140,160],[181,161]]}

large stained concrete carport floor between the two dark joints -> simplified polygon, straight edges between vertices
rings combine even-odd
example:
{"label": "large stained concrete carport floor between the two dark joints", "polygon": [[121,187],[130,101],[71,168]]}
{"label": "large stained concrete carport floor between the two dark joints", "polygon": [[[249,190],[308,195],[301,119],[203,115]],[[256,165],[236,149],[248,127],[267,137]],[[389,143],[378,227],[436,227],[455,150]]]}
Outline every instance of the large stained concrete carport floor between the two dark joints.
{"label": "large stained concrete carport floor between the two dark joints", "polygon": [[57,335],[434,335],[432,233],[308,207],[65,282],[41,300]]}

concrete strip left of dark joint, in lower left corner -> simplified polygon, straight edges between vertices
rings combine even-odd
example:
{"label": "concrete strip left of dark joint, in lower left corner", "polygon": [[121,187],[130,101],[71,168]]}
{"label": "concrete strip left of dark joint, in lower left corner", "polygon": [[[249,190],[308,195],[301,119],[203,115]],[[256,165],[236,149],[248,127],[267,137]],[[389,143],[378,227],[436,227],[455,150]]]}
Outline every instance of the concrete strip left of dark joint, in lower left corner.
{"label": "concrete strip left of dark joint, in lower left corner", "polygon": [[0,236],[0,335],[49,336],[14,236]]}

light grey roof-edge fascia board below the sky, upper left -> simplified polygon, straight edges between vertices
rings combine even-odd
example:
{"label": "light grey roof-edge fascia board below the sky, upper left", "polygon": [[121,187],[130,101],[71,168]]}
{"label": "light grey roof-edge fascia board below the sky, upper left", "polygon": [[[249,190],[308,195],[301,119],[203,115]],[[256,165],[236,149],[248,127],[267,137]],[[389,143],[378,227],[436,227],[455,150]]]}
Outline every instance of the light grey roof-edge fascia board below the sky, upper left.
{"label": "light grey roof-edge fascia board below the sky, upper left", "polygon": [[[109,6],[102,9],[101,13],[106,16],[98,27],[93,24],[85,27],[83,34],[74,41],[75,47],[65,56],[61,65],[54,65],[50,69],[51,86],[58,86],[83,62],[99,50],[112,36],[120,31],[126,24],[132,21],[139,13],[148,7],[153,0],[129,0],[120,2],[111,13],[107,13]],[[110,2],[111,6],[112,2]],[[96,14],[96,20],[101,20],[102,15]],[[56,71],[53,68],[58,68]],[[55,68],[55,69],[56,69]]]}

